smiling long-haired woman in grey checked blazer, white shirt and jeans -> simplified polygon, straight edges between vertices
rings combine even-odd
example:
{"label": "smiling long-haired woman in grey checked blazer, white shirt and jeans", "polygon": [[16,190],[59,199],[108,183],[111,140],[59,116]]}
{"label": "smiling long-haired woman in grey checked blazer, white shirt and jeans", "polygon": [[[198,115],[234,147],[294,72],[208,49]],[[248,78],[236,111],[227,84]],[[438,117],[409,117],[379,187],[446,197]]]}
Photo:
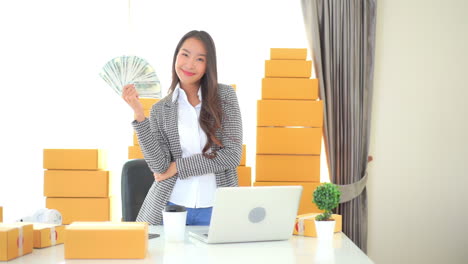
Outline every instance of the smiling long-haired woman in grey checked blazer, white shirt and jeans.
{"label": "smiling long-haired woman in grey checked blazer, white shirt and jeans", "polygon": [[232,87],[218,84],[211,36],[190,31],[179,41],[169,95],[154,104],[150,118],[133,85],[122,97],[135,112],[132,125],[155,182],[137,221],[162,223],[167,204],[187,208],[187,225],[209,225],[217,187],[237,186],[242,121]]}

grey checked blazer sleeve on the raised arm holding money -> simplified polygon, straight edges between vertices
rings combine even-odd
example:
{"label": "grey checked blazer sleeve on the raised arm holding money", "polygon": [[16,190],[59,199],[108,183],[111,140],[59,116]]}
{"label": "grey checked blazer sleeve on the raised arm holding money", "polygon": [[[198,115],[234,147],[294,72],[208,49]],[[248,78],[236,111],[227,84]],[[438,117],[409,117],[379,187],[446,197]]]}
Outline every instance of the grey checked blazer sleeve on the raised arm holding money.
{"label": "grey checked blazer sleeve on the raised arm holding money", "polygon": [[154,173],[164,173],[169,168],[171,158],[169,148],[158,126],[162,113],[158,113],[157,109],[156,105],[153,106],[149,119],[146,118],[142,122],[135,120],[132,125],[148,167]]}

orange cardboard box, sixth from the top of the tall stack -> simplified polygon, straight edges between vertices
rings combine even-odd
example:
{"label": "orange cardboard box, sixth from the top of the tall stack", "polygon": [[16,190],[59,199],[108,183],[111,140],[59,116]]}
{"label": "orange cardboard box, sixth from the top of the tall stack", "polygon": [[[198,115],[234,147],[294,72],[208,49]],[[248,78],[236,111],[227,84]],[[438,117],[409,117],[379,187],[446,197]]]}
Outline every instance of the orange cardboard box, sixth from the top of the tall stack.
{"label": "orange cardboard box, sixth from the top of the tall stack", "polygon": [[320,156],[257,155],[255,180],[320,182]]}

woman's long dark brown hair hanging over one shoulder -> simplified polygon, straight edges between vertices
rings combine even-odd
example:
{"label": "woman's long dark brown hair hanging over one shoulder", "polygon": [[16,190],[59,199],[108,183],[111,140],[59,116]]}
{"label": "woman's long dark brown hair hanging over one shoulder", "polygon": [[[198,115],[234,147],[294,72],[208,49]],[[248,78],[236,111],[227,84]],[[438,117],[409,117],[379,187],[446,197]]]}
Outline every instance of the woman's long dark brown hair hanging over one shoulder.
{"label": "woman's long dark brown hair hanging over one shoulder", "polygon": [[205,31],[192,30],[185,34],[177,44],[172,60],[172,83],[169,87],[169,92],[174,92],[179,76],[175,70],[177,54],[184,44],[185,40],[196,38],[200,40],[206,49],[206,71],[200,80],[202,105],[200,110],[200,127],[205,131],[207,136],[206,145],[203,147],[203,155],[207,158],[214,158],[216,153],[207,153],[214,145],[222,147],[221,141],[216,137],[215,133],[221,128],[221,119],[223,113],[221,110],[220,99],[218,96],[218,68],[216,66],[216,48],[211,36]]}

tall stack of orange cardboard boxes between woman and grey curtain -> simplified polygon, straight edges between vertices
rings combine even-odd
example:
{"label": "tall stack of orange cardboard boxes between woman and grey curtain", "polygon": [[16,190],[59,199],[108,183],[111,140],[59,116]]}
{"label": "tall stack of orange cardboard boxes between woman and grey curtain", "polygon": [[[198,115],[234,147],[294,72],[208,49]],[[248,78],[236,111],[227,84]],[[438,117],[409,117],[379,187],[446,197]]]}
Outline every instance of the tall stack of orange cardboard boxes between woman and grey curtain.
{"label": "tall stack of orange cardboard boxes between woman and grey curtain", "polygon": [[323,105],[306,55],[307,49],[271,49],[257,103],[254,185],[302,185],[299,214],[321,212],[312,195],[320,184]]}

